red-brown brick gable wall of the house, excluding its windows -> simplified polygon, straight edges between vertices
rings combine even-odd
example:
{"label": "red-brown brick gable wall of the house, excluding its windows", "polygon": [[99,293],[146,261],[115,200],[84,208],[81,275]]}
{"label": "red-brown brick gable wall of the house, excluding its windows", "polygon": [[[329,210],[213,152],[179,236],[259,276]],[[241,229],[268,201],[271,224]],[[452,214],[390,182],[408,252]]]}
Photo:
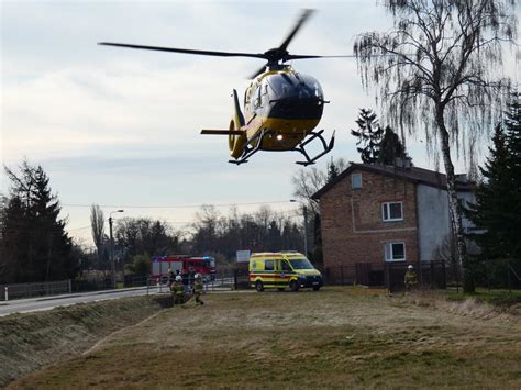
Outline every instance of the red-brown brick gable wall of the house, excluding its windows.
{"label": "red-brown brick gable wall of the house, excluding its windows", "polygon": [[[362,189],[351,188],[351,175],[320,199],[324,266],[355,281],[355,264],[385,263],[385,243],[403,242],[406,261],[418,261],[415,185],[365,170]],[[384,222],[381,204],[402,201],[403,221]]]}

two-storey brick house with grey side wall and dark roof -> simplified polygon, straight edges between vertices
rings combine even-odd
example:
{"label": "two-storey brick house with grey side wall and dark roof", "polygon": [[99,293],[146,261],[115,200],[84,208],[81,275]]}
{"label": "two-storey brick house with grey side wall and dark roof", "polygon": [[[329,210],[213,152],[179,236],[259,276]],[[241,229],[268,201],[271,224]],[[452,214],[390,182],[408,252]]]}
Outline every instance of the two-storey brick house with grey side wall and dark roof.
{"label": "two-storey brick house with grey side wall and dark roof", "polygon": [[[458,198],[472,202],[473,185],[463,178]],[[428,169],[351,163],[312,198],[320,201],[324,267],[348,282],[359,282],[359,265],[432,261],[451,232],[445,175]]]}

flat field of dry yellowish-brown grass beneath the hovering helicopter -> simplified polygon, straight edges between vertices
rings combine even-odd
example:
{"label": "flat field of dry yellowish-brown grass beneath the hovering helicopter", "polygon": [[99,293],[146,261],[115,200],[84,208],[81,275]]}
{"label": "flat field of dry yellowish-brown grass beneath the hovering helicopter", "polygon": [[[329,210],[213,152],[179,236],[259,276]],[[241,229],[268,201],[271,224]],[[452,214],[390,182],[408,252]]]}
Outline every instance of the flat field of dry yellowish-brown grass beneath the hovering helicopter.
{"label": "flat field of dry yellowish-brown grass beneath the hovering helicopter", "polygon": [[488,305],[333,287],[203,298],[10,388],[521,388],[520,317]]}

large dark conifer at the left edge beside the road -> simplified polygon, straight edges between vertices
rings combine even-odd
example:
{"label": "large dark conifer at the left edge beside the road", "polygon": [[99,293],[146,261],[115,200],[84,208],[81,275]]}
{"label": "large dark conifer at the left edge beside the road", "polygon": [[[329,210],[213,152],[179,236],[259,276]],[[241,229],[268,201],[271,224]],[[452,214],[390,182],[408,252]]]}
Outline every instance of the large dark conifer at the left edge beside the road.
{"label": "large dark conifer at the left edge beside the road", "polygon": [[41,166],[24,161],[20,172],[5,167],[11,193],[2,213],[5,282],[48,281],[71,278],[76,271],[71,239],[59,219],[57,196]]}

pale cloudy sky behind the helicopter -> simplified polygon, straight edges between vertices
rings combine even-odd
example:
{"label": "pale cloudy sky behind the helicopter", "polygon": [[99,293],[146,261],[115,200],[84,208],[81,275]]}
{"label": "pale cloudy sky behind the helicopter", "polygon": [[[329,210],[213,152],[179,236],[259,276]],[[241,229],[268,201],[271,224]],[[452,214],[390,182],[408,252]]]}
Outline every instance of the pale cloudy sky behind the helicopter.
{"label": "pale cloudy sky behind the helicopter", "polygon": [[[292,54],[350,55],[357,34],[391,20],[375,1],[5,1],[1,18],[0,154],[14,168],[41,165],[63,207],[67,231],[91,246],[90,205],[114,219],[153,218],[188,231],[202,204],[223,214],[268,205],[298,215],[291,177],[297,153],[258,153],[229,164],[228,138],[200,129],[226,127],[231,92],[242,96],[255,58],[219,58],[99,46],[119,42],[262,53],[278,46],[302,8],[315,9],[291,42]],[[512,60],[511,60],[512,62]],[[361,108],[375,109],[353,58],[293,62],[315,77],[331,101],[318,129],[336,130],[331,158],[359,161]],[[378,113],[378,112],[377,112]],[[434,168],[421,140],[408,151]],[[456,157],[456,156],[455,156]],[[456,158],[458,171],[464,161]],[[9,182],[0,174],[0,191]]]}

